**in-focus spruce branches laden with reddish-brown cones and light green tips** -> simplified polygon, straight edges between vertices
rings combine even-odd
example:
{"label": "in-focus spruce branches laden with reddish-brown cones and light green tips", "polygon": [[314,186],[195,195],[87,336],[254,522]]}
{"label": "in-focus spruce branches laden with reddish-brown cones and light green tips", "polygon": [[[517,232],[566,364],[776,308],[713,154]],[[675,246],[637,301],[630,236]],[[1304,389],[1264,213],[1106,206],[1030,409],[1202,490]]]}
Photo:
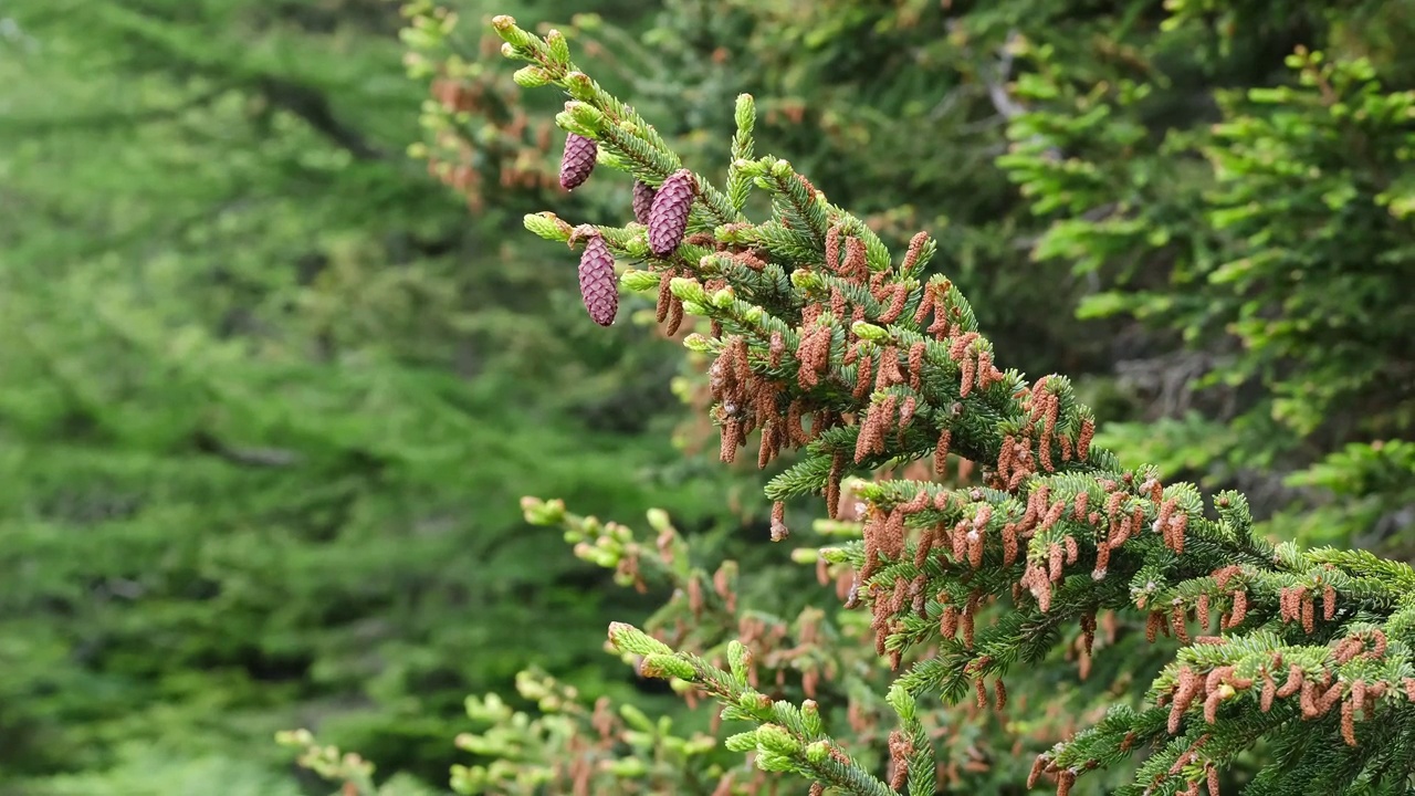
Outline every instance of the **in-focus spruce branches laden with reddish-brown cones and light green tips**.
{"label": "in-focus spruce branches laden with reddish-brown cones and light green tips", "polygon": [[[1138,756],[1121,793],[1215,792],[1220,773],[1262,745],[1268,765],[1247,793],[1405,792],[1415,772],[1415,569],[1275,547],[1252,533],[1241,494],[1206,499],[1092,445],[1095,418],[1071,382],[1007,370],[952,282],[924,275],[938,254],[927,234],[890,252],[788,161],[754,154],[751,96],[739,98],[717,187],[580,71],[563,37],[509,17],[494,27],[504,54],[528,62],[516,82],[565,89],[559,126],[637,180],[633,204],[625,181],[625,217],[642,218],[644,187],[657,188],[647,225],[586,229],[542,212],[526,227],[633,262],[621,283],[657,292],[659,322],[709,322],[685,344],[713,358],[722,459],[750,435],[763,466],[795,452],[767,486],[774,540],[790,534],[787,501],[824,497],[832,517],[855,511],[842,500],[852,476],[911,462],[942,476],[959,457],[982,472],[982,486],[961,489],[927,474],[849,482],[863,538],[821,551],[855,572],[848,606],[869,610],[874,650],[899,673],[887,778],[826,732],[814,703],[753,686],[741,644],[722,667],[611,626],[611,644],[637,656],[642,674],[754,725],[730,749],[808,779],[812,793],[931,795],[937,761],[920,705],[1000,703],[1005,680],[1041,660],[1063,629],[1080,626],[1090,640],[1098,615],[1121,612],[1143,619],[1152,640],[1173,635],[1184,646],[1139,708],[1116,705],[1040,755],[1033,783],[1067,793],[1088,772]],[[770,201],[764,220],[746,214],[754,191]],[[990,622],[979,620],[985,606]]]}

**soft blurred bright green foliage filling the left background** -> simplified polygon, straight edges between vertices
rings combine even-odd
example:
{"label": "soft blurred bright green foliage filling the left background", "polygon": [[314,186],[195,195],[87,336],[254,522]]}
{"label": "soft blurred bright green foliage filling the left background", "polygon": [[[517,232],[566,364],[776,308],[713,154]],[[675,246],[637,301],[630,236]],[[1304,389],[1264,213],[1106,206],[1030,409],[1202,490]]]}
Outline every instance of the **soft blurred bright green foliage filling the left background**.
{"label": "soft blurred bright green foliage filling the left background", "polygon": [[468,690],[599,681],[604,579],[522,490],[722,511],[654,476],[666,384],[582,385],[633,330],[524,323],[574,279],[502,241],[535,191],[470,217],[405,156],[398,7],[4,14],[3,776],[270,765],[317,724],[436,780]]}

